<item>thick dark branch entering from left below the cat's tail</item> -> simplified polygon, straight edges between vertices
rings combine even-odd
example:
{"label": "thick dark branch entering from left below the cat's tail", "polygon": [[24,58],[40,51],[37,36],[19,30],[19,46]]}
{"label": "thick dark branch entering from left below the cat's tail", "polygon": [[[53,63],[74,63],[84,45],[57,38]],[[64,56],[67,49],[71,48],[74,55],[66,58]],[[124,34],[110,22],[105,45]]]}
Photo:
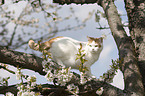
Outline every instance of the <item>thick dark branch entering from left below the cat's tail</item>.
{"label": "thick dark branch entering from left below the cat's tail", "polygon": [[43,59],[31,54],[17,52],[6,47],[0,47],[0,63],[6,63],[14,67],[30,69],[44,75],[41,65]]}

